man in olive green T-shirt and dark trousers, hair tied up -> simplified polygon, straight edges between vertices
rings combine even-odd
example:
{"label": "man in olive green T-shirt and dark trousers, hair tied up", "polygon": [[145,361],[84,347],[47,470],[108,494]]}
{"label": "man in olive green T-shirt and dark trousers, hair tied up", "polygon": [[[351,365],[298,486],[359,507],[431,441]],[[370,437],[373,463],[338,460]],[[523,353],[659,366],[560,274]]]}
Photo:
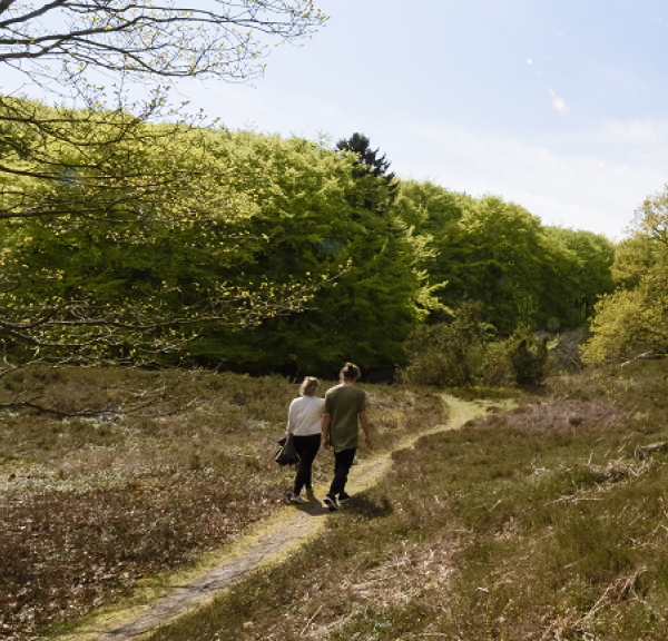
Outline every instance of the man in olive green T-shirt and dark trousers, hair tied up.
{"label": "man in olive green T-shirt and dark trousers, hair tied up", "polygon": [[341,383],[325,393],[323,406],[322,443],[334,450],[334,480],[324,503],[330,510],[338,510],[338,501],[350,499],[345,484],[357,451],[357,420],[364,431],[367,447],[371,447],[371,432],[366,417],[366,393],[355,386],[360,368],[346,363],[340,373]]}

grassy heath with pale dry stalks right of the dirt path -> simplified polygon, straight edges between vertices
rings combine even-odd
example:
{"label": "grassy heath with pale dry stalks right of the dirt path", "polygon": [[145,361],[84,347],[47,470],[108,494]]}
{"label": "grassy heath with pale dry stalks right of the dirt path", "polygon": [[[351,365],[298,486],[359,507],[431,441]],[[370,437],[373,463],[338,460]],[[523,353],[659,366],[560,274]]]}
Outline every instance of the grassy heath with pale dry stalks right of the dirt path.
{"label": "grassy heath with pale dry stalks right of the dirt path", "polygon": [[668,638],[668,363],[430,435],[322,536],[154,641]]}

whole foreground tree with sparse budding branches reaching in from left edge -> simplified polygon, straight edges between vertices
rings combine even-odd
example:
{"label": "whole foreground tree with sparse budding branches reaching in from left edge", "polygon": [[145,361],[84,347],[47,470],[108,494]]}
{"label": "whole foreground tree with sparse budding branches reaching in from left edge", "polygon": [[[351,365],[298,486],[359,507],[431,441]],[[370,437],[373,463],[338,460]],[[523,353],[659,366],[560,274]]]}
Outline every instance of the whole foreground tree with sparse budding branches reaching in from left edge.
{"label": "whole foreground tree with sparse budding branches reaching in from left edge", "polygon": [[[124,296],[96,266],[110,247],[150,262],[169,235],[193,248],[217,238],[220,262],[264,243],[238,231],[262,186],[212,156],[198,118],[170,102],[171,82],[256,78],[273,46],[325,20],[307,0],[0,0],[0,375],[132,349],[137,362],[204,322],[254,324],[303,304],[310,284],[274,287],[269,275],[256,293],[210,280],[185,296],[167,279]],[[92,255],[89,278],[69,269]]]}

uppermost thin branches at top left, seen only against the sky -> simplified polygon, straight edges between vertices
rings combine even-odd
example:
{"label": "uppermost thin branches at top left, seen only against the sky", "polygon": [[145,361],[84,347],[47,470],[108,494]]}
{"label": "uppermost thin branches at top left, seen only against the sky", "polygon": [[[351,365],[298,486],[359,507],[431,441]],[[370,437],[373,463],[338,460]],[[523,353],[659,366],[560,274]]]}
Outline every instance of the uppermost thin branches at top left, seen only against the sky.
{"label": "uppermost thin branches at top left, seen only against the sky", "polygon": [[308,36],[325,20],[312,0],[0,0],[0,65],[77,95],[109,89],[86,81],[100,70],[118,91],[119,78],[244,80],[263,72],[273,41]]}

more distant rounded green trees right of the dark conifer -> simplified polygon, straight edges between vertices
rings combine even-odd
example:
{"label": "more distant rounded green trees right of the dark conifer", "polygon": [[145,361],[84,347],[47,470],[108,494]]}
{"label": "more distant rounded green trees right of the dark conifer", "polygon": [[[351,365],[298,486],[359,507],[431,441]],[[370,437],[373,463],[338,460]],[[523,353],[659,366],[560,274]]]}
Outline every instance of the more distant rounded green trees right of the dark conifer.
{"label": "more distant rounded green trees right of the dark conifer", "polygon": [[432,284],[446,283],[441,303],[482,302],[484,320],[501,335],[518,325],[550,332],[582,325],[597,297],[612,289],[613,247],[603,236],[542,227],[512,203],[430,183],[402,183],[395,209],[430,238],[424,268]]}

